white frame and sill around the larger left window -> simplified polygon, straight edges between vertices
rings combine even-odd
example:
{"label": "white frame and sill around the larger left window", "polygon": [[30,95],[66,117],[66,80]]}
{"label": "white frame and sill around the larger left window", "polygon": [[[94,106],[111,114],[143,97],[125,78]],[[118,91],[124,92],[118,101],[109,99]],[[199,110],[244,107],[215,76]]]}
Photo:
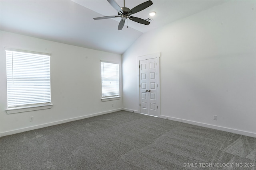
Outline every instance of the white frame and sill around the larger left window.
{"label": "white frame and sill around the larger left window", "polygon": [[[10,49],[5,47],[5,51],[12,51],[12,52],[21,52],[21,53],[30,53],[33,55],[46,55],[49,56],[49,76],[50,76],[50,56],[51,54],[48,53],[39,53],[39,52],[34,52],[34,51],[26,51],[26,50],[20,50],[20,49]],[[25,67],[26,68],[26,67]],[[7,53],[6,53],[6,90],[8,90],[8,68],[7,68]],[[52,103],[51,103],[51,82],[50,84],[50,102],[47,103],[38,103],[38,104],[30,104],[30,105],[24,105],[24,106],[17,106],[17,107],[9,107],[9,99],[8,99],[8,92],[7,92],[7,109],[6,112],[7,114],[12,114],[12,113],[20,113],[20,112],[26,112],[26,111],[34,111],[34,110],[41,110],[41,109],[50,109],[52,108]]]}

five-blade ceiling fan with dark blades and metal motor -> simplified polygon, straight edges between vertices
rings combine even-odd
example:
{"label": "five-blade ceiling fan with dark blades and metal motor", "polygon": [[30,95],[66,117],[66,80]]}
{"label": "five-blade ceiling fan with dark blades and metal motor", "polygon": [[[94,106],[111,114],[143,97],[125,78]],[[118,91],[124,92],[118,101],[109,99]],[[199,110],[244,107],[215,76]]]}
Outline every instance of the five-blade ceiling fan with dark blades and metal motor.
{"label": "five-blade ceiling fan with dark blades and metal motor", "polygon": [[120,21],[120,23],[118,25],[118,30],[123,29],[125,20],[127,18],[129,18],[132,21],[135,21],[135,22],[138,22],[138,23],[142,23],[142,24],[145,24],[145,25],[150,24],[149,21],[146,21],[146,20],[143,20],[141,18],[137,18],[137,17],[131,16],[131,15],[135,14],[137,12],[140,12],[140,11],[146,9],[146,8],[148,8],[150,5],[153,4],[153,2],[151,0],[143,2],[142,4],[132,8],[131,10],[129,8],[126,8],[126,7],[120,8],[120,6],[114,0],[107,0],[107,1],[110,3],[111,6],[113,6],[117,10],[118,16],[104,16],[104,17],[94,18],[94,20],[102,20],[102,19],[108,19],[108,18],[121,17],[122,19],[121,19],[121,21]]}

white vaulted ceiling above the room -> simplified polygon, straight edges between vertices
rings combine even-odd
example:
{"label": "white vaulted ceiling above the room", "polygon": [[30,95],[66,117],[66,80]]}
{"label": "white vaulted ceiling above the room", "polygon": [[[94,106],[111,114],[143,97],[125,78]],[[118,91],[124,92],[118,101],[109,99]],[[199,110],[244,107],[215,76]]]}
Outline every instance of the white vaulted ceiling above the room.
{"label": "white vaulted ceiling above the room", "polygon": [[[146,0],[126,0],[134,8]],[[123,0],[116,0],[123,7]],[[147,19],[149,25],[128,20],[117,30],[120,18],[93,20],[114,16],[117,11],[107,0],[0,0],[0,29],[50,41],[122,54],[140,35],[173,21],[224,3],[217,0],[152,0],[153,5],[132,16]]]}

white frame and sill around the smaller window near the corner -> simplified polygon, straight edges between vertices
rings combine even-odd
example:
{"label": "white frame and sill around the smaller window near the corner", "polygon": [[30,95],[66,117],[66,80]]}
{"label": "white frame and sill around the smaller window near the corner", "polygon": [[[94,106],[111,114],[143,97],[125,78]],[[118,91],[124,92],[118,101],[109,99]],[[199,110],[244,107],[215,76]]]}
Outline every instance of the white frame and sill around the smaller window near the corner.
{"label": "white frame and sill around the smaller window near the corner", "polygon": [[[118,64],[118,96],[106,96],[103,97],[102,96],[102,63],[110,63],[110,64]],[[100,62],[100,80],[101,80],[101,101],[105,102],[105,101],[111,101],[111,100],[119,100],[120,99],[120,63],[117,62],[112,62],[112,61],[101,61]]]}

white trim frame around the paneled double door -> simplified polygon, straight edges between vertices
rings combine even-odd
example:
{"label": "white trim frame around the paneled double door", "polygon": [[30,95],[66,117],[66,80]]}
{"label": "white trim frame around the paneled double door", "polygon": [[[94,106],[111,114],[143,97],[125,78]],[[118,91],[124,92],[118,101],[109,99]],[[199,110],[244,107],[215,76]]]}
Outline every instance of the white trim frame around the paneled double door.
{"label": "white trim frame around the paneled double door", "polygon": [[156,87],[156,91],[157,91],[157,95],[156,95],[156,100],[158,101],[158,109],[157,109],[157,115],[158,117],[160,117],[160,53],[153,53],[153,54],[150,54],[150,55],[143,55],[143,56],[139,56],[137,57],[137,66],[138,66],[138,112],[140,113],[140,61],[143,61],[143,60],[148,60],[148,59],[154,59],[156,58],[157,60],[157,66],[156,66],[156,70],[157,70],[157,87]]}

